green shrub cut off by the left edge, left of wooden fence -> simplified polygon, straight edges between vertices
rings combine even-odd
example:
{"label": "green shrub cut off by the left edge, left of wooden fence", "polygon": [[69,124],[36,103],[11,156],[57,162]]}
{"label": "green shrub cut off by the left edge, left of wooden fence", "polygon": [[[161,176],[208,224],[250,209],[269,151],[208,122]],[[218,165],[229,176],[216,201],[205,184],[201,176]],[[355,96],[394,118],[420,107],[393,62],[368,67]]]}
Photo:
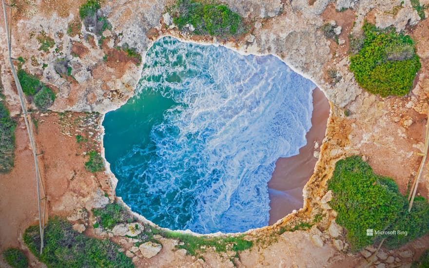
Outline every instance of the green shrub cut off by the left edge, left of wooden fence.
{"label": "green shrub cut off by the left edge, left of wooden fence", "polygon": [[0,101],[0,172],[9,172],[15,159],[15,128],[17,123]]}

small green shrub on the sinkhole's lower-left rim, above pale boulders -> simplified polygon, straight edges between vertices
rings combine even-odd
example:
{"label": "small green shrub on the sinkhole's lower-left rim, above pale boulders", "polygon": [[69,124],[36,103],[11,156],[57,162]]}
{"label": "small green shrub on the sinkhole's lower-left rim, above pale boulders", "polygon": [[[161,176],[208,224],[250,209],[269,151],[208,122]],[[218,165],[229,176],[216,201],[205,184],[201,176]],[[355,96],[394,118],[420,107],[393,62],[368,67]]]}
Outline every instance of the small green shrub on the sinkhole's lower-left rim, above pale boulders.
{"label": "small green shrub on the sinkhole's lower-left rim, above pale boulders", "polygon": [[117,203],[107,204],[102,209],[92,210],[97,222],[105,229],[112,230],[119,223],[131,223],[134,221],[130,218],[129,213],[124,207]]}

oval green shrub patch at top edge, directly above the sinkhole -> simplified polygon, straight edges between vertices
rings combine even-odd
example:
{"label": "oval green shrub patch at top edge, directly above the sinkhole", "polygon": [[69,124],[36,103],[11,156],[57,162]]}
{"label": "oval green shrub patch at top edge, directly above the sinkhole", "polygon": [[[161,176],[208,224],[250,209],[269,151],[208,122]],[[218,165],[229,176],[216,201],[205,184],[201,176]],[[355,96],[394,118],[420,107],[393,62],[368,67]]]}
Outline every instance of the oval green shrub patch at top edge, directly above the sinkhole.
{"label": "oval green shrub patch at top edge, directly above the sinkhole", "polygon": [[228,37],[245,31],[243,18],[224,4],[197,0],[178,0],[172,7],[173,22],[197,35]]}

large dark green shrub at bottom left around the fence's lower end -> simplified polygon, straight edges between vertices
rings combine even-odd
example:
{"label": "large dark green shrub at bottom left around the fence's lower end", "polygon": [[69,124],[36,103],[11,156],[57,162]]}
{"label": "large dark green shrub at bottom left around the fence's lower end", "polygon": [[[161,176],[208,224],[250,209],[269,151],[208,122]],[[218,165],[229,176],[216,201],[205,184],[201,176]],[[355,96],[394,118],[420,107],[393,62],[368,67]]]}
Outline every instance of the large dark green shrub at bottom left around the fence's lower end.
{"label": "large dark green shrub at bottom left around the fence's lower end", "polygon": [[39,254],[39,226],[27,228],[23,238],[30,251],[48,268],[134,267],[131,259],[118,251],[116,244],[80,234],[69,222],[58,217],[50,219],[45,228],[42,254]]}

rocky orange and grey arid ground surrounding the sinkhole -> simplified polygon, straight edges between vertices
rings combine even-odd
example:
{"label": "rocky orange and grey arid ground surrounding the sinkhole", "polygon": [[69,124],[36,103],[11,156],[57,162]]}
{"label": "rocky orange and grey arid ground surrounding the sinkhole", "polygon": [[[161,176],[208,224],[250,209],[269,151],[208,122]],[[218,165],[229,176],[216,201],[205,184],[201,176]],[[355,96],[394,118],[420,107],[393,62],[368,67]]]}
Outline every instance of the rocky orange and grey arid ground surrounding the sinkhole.
{"label": "rocky orange and grey arid ground surrounding the sinkhole", "polygon": [[[327,182],[335,163],[355,154],[367,160],[375,173],[393,178],[404,194],[417,173],[429,109],[429,19],[421,20],[409,0],[394,13],[390,11],[400,0],[226,0],[251,26],[248,33],[229,40],[179,31],[163,16],[170,4],[164,0],[105,1],[100,12],[112,27],[104,30],[104,38],[82,23],[79,29],[72,24],[79,18],[78,8],[83,0],[15,2],[11,20],[12,57],[25,58],[22,68],[57,94],[49,111],[34,110],[32,114],[37,121],[35,137],[48,200],[47,215],[68,218],[88,236],[117,242],[133,258],[136,267],[343,268],[367,263],[371,255],[367,252],[375,249],[369,247],[363,253],[350,251],[344,230],[334,222],[337,212],[327,204],[330,197]],[[429,4],[429,0],[421,0],[420,4]],[[425,13],[429,17],[428,9]],[[320,31],[331,20],[341,26],[338,42],[325,38]],[[407,96],[381,98],[357,85],[349,70],[348,37],[361,31],[364,20],[379,27],[393,25],[415,40],[422,68]],[[47,51],[39,50],[37,37],[42,31],[55,40],[55,45]],[[4,21],[0,19],[0,86],[7,108],[18,121],[15,167],[0,175],[0,251],[18,247],[29,257],[31,267],[43,267],[22,241],[24,230],[38,220],[36,181],[33,154],[9,65],[6,35]],[[309,149],[311,155],[313,151],[320,153],[302,192],[302,208],[271,226],[247,231],[245,237],[254,241],[254,246],[240,252],[238,257],[234,256],[236,252],[207,249],[203,258],[196,258],[186,250],[176,249],[176,239],[160,237],[162,249],[156,256],[146,258],[140,251],[130,251],[135,244],[132,238],[93,228],[94,219],[82,216],[82,209],[91,211],[118,199],[113,173],[108,169],[96,173],[85,170],[86,154],[96,150],[103,155],[103,114],[133,96],[145,51],[163,36],[215,43],[243,54],[273,54],[297,73],[312,79],[331,104],[325,138],[320,148],[314,149],[312,145],[312,151]],[[116,48],[125,43],[136,48],[142,62]],[[68,59],[71,67],[68,76],[61,76],[55,70],[59,58]],[[338,81],[332,82],[328,75],[332,68],[337,71]],[[86,140],[77,142],[77,135]],[[417,191],[417,195],[425,198],[429,197],[428,175],[426,165]],[[316,215],[325,216],[315,221]],[[153,225],[142,216],[135,216],[139,222]],[[307,230],[289,231],[300,223],[313,225]],[[386,256],[393,256],[394,262],[379,257],[371,265],[409,267],[428,248],[429,235],[426,235],[399,249],[380,249]],[[0,260],[0,266],[3,265],[6,266]]]}

